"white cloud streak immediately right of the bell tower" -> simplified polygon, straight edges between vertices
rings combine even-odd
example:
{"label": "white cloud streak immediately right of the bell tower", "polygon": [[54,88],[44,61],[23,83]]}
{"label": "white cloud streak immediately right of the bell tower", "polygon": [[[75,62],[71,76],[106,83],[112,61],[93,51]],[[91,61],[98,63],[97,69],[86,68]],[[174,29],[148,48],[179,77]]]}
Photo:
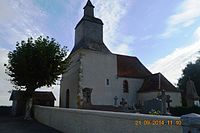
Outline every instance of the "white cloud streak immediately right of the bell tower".
{"label": "white cloud streak immediately right of the bell tower", "polygon": [[[130,1],[126,3],[123,0],[99,0],[95,1],[95,16],[102,19],[104,23],[104,42],[108,48],[115,53],[131,53],[130,44],[134,42],[132,35],[120,35],[118,28],[120,21],[126,14]],[[116,41],[120,37],[121,42]]]}

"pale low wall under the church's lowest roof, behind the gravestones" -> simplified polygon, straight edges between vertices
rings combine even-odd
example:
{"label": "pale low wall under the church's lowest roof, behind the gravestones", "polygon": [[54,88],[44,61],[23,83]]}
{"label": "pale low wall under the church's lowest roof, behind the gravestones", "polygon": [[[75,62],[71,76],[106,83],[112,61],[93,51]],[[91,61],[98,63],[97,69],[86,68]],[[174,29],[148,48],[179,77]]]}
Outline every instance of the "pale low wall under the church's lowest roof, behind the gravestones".
{"label": "pale low wall under the church's lowest roof, behind the gravestones", "polygon": [[[176,107],[181,106],[181,94],[178,92],[166,92],[166,95],[170,95],[170,99],[172,102],[170,103],[170,106]],[[161,95],[161,92],[143,92],[138,93],[138,102],[141,104],[144,104],[144,101],[152,100],[153,98],[156,98],[158,95]]]}

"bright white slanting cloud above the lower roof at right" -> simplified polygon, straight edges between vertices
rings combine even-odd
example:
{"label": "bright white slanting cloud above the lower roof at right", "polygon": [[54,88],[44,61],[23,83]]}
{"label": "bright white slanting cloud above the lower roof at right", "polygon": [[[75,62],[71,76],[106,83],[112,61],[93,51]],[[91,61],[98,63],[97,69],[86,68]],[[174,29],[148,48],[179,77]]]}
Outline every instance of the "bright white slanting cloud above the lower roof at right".
{"label": "bright white slanting cloud above the lower roof at right", "polygon": [[200,51],[200,27],[194,32],[196,41],[184,48],[178,48],[168,56],[157,60],[149,66],[154,72],[163,73],[172,83],[177,83],[181,77],[182,70],[188,62],[194,62],[199,57]]}

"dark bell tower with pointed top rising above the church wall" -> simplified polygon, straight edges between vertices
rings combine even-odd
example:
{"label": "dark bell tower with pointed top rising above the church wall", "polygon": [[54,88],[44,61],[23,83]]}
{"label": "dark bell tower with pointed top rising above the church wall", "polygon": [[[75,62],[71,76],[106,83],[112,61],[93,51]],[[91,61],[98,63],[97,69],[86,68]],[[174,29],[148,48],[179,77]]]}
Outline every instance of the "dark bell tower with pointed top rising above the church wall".
{"label": "dark bell tower with pointed top rising above the church wall", "polygon": [[83,9],[84,15],[75,27],[75,45],[72,53],[81,48],[111,53],[103,42],[103,22],[95,18],[94,6],[90,0]]}

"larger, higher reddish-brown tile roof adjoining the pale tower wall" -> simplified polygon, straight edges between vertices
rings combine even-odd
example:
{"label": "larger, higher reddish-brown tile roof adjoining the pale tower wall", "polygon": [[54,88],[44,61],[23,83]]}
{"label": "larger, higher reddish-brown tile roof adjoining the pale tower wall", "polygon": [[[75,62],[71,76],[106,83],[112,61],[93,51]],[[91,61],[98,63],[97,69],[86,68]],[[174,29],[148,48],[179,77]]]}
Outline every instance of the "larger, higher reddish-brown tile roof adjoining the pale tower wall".
{"label": "larger, higher reddish-brown tile roof adjoining the pale tower wall", "polygon": [[151,74],[137,57],[117,55],[117,75],[119,77],[144,78]]}

